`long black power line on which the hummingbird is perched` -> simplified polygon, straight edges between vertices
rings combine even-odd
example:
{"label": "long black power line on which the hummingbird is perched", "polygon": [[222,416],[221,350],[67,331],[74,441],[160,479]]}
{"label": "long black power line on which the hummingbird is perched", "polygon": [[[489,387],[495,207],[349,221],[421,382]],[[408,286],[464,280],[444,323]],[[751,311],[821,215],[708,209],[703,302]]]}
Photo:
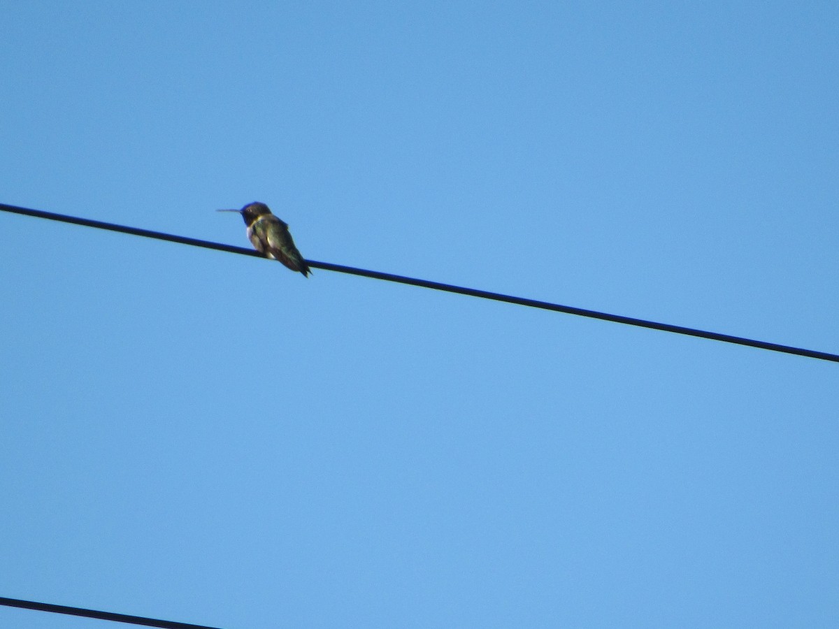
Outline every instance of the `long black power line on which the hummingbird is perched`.
{"label": "long black power line on which the hummingbird is perched", "polygon": [[[65,223],[72,223],[74,225],[83,225],[86,227],[96,227],[97,229],[119,231],[123,234],[131,234],[133,236],[156,238],[158,240],[165,240],[169,242],[179,242],[180,244],[191,245],[192,247],[206,247],[207,249],[216,249],[218,251],[238,253],[244,256],[264,257],[262,253],[254,251],[253,249],[246,249],[244,247],[232,247],[232,245],[224,245],[220,242],[209,242],[205,240],[198,240],[196,238],[174,236],[172,234],[164,234],[160,231],[151,231],[148,229],[138,229],[137,227],[115,225],[114,223],[106,223],[103,221],[92,221],[91,219],[79,218],[76,216],[65,216],[63,214],[54,214],[52,212],[29,210],[27,208],[17,207],[15,205],[6,205],[0,203],[0,210],[13,212],[14,214],[23,214],[24,216],[35,216],[36,218],[45,218],[50,221],[62,221]],[[590,319],[612,321],[613,323],[620,323],[623,325],[635,325],[640,328],[649,328],[650,330],[661,330],[663,332],[672,332],[674,334],[697,336],[702,339],[719,340],[723,343],[733,343],[735,345],[757,347],[761,350],[779,351],[784,354],[806,356],[808,358],[816,358],[821,361],[839,362],[839,355],[831,354],[826,351],[806,350],[801,347],[792,347],[786,345],[779,345],[778,343],[770,343],[766,340],[754,340],[743,338],[743,336],[733,336],[727,334],[720,334],[719,332],[696,330],[695,328],[686,328],[682,325],[670,325],[667,323],[658,323],[656,321],[635,319],[633,317],[626,317],[621,314],[608,314],[605,312],[597,312],[597,310],[588,310],[583,308],[575,308],[573,306],[552,304],[547,301],[538,301],[536,299],[525,299],[524,297],[514,297],[513,295],[490,293],[486,290],[466,289],[462,286],[453,286],[451,284],[440,282],[430,282],[426,279],[406,278],[403,275],[394,275],[393,273],[381,273],[379,271],[368,271],[364,268],[345,267],[342,264],[321,263],[315,262],[314,260],[306,260],[306,263],[312,268],[322,268],[326,271],[336,271],[337,273],[348,273],[350,275],[361,275],[365,278],[383,279],[387,282],[397,282],[403,284],[410,284],[412,286],[421,286],[424,289],[443,290],[448,293],[470,295],[472,297],[479,297],[481,299],[493,299],[495,301],[503,301],[508,304],[519,304],[522,306],[528,306],[529,308],[540,308],[544,310],[562,312],[565,314],[576,314],[577,316],[588,317]]]}

